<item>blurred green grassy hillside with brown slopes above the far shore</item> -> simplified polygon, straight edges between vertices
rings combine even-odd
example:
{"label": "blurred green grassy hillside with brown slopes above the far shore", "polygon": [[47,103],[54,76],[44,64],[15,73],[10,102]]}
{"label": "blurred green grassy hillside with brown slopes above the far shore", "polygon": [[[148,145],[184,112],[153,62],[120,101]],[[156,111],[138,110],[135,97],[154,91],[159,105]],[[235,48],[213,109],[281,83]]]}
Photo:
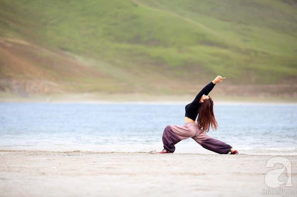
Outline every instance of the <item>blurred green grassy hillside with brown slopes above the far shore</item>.
{"label": "blurred green grassy hillside with brown slopes above the far shore", "polygon": [[297,79],[294,0],[0,0],[0,37],[2,89],[34,79],[56,91],[172,93],[216,75]]}

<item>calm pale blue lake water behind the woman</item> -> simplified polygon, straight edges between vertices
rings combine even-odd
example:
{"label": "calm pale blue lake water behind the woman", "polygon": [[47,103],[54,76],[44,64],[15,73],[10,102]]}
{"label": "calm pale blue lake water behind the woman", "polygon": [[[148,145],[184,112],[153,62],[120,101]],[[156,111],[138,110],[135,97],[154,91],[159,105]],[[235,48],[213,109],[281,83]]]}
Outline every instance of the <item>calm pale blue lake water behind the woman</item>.
{"label": "calm pale blue lake water behind the woman", "polygon": [[[184,124],[185,104],[0,103],[0,150],[161,151],[168,124]],[[241,153],[297,155],[297,105],[215,105],[208,132]],[[211,153],[193,139],[176,153]]]}

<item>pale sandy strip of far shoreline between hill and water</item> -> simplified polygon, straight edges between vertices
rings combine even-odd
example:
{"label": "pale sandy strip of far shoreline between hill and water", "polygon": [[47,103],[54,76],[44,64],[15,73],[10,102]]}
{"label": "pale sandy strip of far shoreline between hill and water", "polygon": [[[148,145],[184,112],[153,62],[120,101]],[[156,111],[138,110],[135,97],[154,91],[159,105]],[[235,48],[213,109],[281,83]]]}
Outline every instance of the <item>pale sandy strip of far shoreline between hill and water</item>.
{"label": "pale sandy strip of far shoreline between hill and water", "polygon": [[[15,94],[0,92],[2,103],[56,103],[56,104],[188,104],[196,94],[184,95],[152,95],[152,94],[59,94],[59,95],[29,95],[22,97]],[[297,105],[296,97],[274,96],[226,96],[212,94],[215,104],[220,105],[250,105],[250,104],[290,104]]]}

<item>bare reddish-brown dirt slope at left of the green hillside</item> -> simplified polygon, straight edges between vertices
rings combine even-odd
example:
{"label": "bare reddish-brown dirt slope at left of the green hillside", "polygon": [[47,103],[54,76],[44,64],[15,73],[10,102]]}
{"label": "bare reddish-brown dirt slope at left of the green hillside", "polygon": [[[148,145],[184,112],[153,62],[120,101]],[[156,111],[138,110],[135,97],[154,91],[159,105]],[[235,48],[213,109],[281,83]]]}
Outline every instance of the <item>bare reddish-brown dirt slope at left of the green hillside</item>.
{"label": "bare reddish-brown dirt slope at left of the green hillside", "polygon": [[[0,38],[0,90],[22,96],[75,91],[113,81],[98,69],[60,50],[23,40]],[[75,84],[75,85],[73,85]]]}

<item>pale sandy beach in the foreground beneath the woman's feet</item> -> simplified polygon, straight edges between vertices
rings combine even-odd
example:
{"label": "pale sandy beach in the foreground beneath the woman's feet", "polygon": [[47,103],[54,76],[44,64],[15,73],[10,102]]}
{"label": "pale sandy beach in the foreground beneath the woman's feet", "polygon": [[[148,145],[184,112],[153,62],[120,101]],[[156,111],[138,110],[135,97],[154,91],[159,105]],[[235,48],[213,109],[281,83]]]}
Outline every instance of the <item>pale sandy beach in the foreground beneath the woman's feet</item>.
{"label": "pale sandy beach in the foreground beneath the woman's feet", "polygon": [[[281,156],[0,151],[0,196],[257,197],[265,174],[282,167],[266,167],[273,157]],[[283,188],[296,189],[297,157],[282,157],[294,185]]]}

